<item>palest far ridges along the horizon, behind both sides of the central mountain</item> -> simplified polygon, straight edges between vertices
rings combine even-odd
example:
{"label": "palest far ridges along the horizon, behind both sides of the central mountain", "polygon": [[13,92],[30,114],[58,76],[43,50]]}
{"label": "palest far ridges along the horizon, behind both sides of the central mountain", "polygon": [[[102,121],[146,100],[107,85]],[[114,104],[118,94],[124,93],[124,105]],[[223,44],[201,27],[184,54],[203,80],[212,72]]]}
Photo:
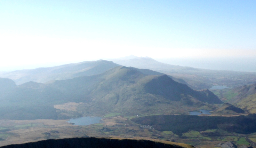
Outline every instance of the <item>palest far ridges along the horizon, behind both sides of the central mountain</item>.
{"label": "palest far ridges along the horizon, behind both sides of the central mountain", "polygon": [[169,75],[174,81],[188,85],[195,90],[210,89],[212,86],[230,88],[256,83],[256,73],[221,70],[207,70],[186,66],[175,66],[158,62],[149,57],[128,56],[112,61],[84,61],[55,67],[1,72],[0,77],[12,79],[20,85],[25,82],[51,83],[54,80],[72,79],[78,76],[101,74],[116,66],[135,67],[142,73],[154,75],[149,70]]}

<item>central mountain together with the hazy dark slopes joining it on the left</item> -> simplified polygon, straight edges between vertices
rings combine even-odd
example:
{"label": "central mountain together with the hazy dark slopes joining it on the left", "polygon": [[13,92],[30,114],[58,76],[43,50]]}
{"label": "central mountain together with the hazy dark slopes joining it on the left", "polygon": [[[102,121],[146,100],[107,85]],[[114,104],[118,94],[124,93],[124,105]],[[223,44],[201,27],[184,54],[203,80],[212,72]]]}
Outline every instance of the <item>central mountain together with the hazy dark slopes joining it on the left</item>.
{"label": "central mountain together with the hazy dark slopes joining it on the left", "polygon": [[[27,82],[16,86],[12,80],[3,79],[12,87],[0,94],[0,119],[67,119],[107,113],[188,113],[206,104],[222,103],[209,90],[192,90],[167,75],[144,73],[136,68],[117,66],[102,74],[55,80],[46,85]],[[82,104],[70,116],[66,111],[61,115],[63,111],[60,110],[57,115],[53,105],[68,102]]]}

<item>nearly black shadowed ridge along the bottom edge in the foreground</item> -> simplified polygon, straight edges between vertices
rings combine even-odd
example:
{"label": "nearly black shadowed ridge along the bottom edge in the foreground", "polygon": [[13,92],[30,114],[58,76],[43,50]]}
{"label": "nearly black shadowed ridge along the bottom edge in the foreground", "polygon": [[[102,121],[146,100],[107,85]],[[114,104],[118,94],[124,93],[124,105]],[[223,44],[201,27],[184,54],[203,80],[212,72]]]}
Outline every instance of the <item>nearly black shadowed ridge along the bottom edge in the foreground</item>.
{"label": "nearly black shadowed ridge along the bottom edge in the foreground", "polygon": [[67,139],[49,139],[25,144],[12,144],[2,146],[1,148],[191,148],[175,144],[164,144],[150,140],[132,140],[132,139],[110,139],[110,138],[67,138]]}

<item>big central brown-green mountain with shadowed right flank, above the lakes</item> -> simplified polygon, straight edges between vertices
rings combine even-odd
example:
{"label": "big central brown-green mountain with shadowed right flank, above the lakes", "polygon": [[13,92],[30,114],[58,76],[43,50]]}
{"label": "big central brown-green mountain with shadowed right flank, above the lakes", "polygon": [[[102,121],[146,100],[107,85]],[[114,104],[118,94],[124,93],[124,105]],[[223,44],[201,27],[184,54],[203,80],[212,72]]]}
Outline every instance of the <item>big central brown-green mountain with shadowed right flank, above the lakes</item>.
{"label": "big central brown-green mountain with shadowed right flank, above the lakes", "polygon": [[[177,109],[180,111],[180,106],[184,105],[222,103],[209,90],[192,90],[167,75],[146,75],[124,66],[99,75],[55,81],[49,86],[72,93],[74,98],[80,98],[81,101],[90,102],[80,107],[99,114],[170,113]],[[170,107],[172,109],[168,110]]]}

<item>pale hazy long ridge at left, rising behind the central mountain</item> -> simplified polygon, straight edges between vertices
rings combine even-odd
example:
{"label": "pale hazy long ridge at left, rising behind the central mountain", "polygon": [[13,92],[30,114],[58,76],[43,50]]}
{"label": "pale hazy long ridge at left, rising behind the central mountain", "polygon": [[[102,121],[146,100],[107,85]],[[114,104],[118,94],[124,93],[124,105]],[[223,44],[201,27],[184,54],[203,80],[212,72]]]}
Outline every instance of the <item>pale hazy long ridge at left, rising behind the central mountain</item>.
{"label": "pale hazy long ridge at left, rising behind the central mountain", "polygon": [[55,67],[16,70],[1,73],[0,77],[12,79],[16,84],[29,81],[45,83],[51,80],[65,80],[77,76],[100,74],[116,66],[120,65],[106,60],[85,61]]}

